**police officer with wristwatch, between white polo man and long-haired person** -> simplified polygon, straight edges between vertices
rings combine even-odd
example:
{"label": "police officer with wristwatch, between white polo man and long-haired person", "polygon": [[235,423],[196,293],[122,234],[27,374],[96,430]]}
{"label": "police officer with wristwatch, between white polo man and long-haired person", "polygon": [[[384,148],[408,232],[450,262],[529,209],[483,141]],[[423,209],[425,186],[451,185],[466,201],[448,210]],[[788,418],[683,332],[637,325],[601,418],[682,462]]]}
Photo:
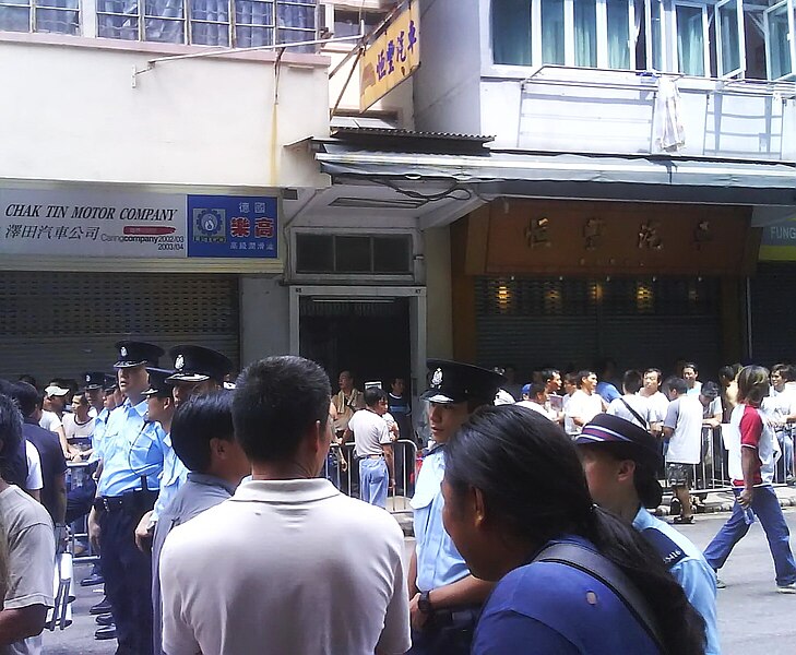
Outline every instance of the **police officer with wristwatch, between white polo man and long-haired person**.
{"label": "police officer with wristwatch, between white polo man and long-haired person", "polygon": [[465,655],[473,630],[492,584],[471,575],[464,559],[442,526],[444,446],[470,415],[491,405],[504,379],[468,364],[429,359],[429,403],[435,448],[426,455],[412,508],[417,546],[409,562],[412,655]]}

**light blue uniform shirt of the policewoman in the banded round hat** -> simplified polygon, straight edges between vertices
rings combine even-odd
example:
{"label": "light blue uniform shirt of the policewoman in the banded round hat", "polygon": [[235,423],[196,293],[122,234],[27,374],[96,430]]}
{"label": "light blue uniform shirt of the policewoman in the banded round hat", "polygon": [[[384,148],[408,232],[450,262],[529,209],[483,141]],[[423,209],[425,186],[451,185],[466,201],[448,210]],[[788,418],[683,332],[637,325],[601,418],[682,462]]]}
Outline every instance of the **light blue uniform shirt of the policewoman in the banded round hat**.
{"label": "light blue uniform shirt of the policewoman in the banded round hat", "polygon": [[720,655],[716,626],[716,574],[702,551],[668,523],[653,516],[644,508],[633,519],[633,527],[663,557],[672,576],[680,584],[689,603],[702,615],[705,627],[705,655]]}

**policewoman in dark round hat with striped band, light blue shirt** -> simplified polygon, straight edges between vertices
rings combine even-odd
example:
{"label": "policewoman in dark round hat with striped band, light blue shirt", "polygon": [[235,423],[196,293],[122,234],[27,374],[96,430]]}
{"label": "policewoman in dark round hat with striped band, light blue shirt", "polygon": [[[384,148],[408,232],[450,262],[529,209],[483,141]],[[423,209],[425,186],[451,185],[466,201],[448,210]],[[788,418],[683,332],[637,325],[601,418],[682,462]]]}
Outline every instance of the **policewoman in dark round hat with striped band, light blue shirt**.
{"label": "policewoman in dark round hat with striped band, light blue shirt", "polygon": [[602,414],[583,428],[575,445],[594,501],[631,523],[658,552],[704,619],[705,655],[718,655],[715,573],[699,548],[646,510],[657,508],[663,497],[655,476],[663,457],[655,438],[623,418]]}

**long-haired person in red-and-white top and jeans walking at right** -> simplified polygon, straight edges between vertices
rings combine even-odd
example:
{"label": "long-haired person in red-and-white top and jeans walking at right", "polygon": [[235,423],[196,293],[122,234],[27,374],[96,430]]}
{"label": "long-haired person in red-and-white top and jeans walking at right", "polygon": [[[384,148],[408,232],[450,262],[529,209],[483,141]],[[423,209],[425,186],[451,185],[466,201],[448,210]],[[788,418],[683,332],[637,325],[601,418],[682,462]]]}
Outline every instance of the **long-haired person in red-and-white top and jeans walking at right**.
{"label": "long-haired person in red-and-white top and jeans walking at right", "polygon": [[[769,371],[747,366],[738,373],[738,405],[729,418],[733,443],[728,468],[733,478],[733,514],[704,551],[708,563],[718,571],[735,545],[760,520],[769,540],[776,572],[776,591],[796,594],[796,562],[791,550],[791,533],[772,486],[780,445],[760,410],[769,395]],[[721,586],[724,586],[721,583]]]}

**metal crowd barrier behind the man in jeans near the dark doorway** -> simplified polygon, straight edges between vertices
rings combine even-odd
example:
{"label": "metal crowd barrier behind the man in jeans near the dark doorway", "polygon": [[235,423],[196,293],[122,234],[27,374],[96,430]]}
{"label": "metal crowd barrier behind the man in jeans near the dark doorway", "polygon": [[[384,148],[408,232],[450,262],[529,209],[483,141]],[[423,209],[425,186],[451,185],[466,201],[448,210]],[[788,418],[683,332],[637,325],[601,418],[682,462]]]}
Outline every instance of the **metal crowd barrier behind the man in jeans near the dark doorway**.
{"label": "metal crowd barrier behind the man in jeans near the dark doorway", "polygon": [[[412,512],[409,500],[415,493],[417,479],[417,444],[399,439],[392,444],[395,464],[395,486],[388,492],[387,509],[393,514]],[[345,462],[345,464],[343,464]],[[323,477],[343,493],[359,498],[359,461],[354,456],[354,443],[332,444],[323,467]]]}

